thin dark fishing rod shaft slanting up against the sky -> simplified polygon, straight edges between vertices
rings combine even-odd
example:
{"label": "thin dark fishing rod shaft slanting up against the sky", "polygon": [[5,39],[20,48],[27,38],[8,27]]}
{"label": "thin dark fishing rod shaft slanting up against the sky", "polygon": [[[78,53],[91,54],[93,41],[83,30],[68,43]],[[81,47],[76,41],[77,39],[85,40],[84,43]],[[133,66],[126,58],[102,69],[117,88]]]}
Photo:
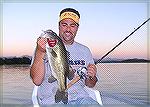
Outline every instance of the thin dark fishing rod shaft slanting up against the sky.
{"label": "thin dark fishing rod shaft slanting up against the sky", "polygon": [[142,27],[145,23],[147,23],[150,20],[148,18],[145,22],[143,22],[139,27],[137,27],[133,32],[131,32],[127,37],[125,37],[121,42],[119,42],[115,47],[113,47],[110,51],[108,51],[101,59],[97,60],[95,64],[100,63],[108,54],[110,54],[113,50],[115,50],[120,44],[122,44],[125,40],[127,40],[133,33],[135,33],[140,27]]}

